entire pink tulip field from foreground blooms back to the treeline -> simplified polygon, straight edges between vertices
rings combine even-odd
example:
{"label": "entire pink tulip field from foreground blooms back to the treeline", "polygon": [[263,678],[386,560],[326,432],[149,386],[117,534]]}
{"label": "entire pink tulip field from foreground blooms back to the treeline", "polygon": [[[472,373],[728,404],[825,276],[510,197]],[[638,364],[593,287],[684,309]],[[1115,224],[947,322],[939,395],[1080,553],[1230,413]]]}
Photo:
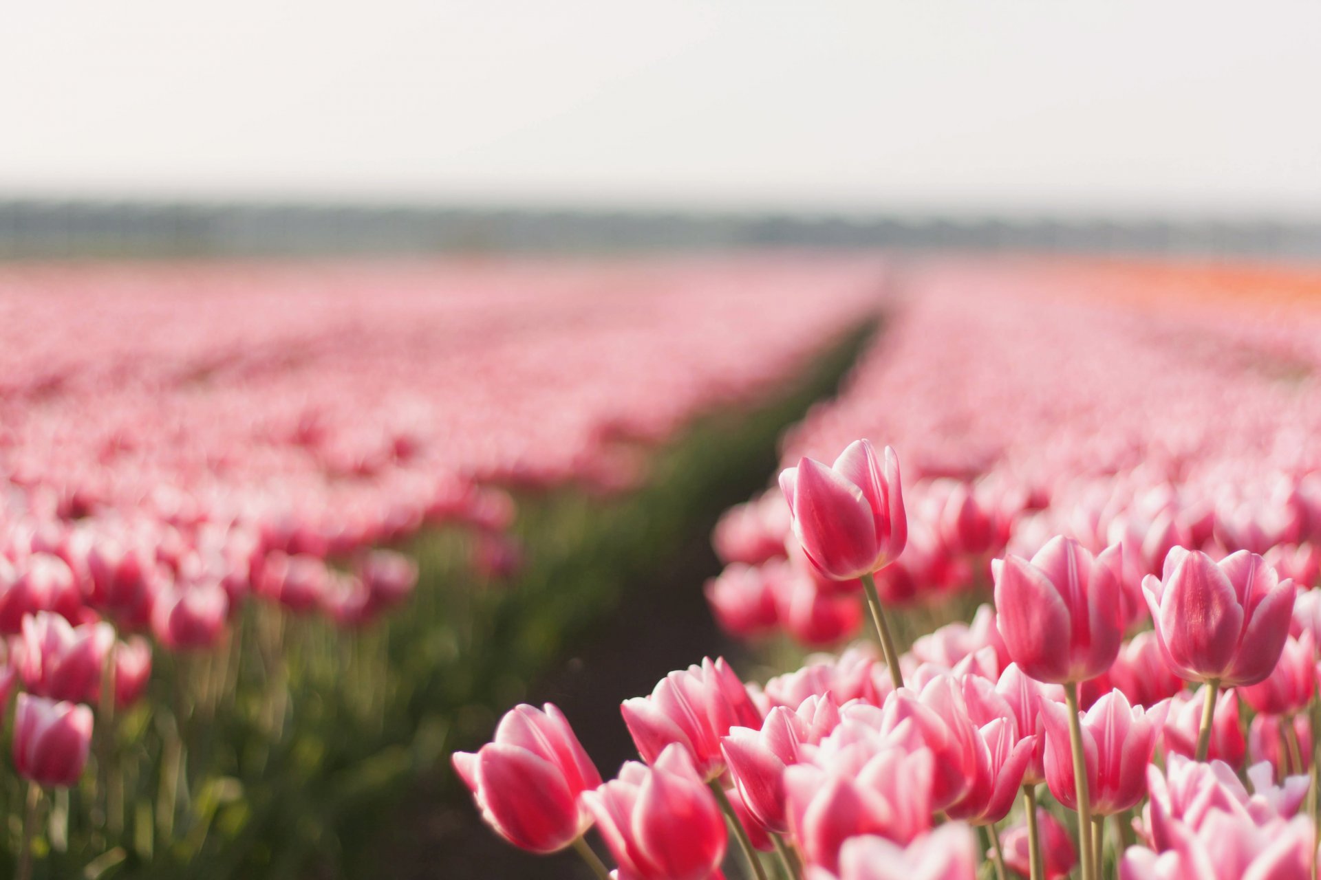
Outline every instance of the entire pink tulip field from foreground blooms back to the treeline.
{"label": "entire pink tulip field from foreground blooms back to the treeline", "polygon": [[1317,435],[1300,268],[0,264],[0,877],[1316,877]]}

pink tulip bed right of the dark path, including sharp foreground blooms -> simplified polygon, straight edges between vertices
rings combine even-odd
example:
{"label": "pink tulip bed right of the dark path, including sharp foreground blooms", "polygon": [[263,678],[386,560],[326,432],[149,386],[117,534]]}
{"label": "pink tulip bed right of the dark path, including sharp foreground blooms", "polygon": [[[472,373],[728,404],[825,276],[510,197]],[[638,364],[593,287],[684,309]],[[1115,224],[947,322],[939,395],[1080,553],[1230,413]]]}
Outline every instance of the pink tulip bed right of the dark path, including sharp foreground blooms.
{"label": "pink tulip bed right of the dark path, including sharp foreground blooms", "polygon": [[1177,268],[904,278],[713,534],[754,662],[832,652],[671,672],[613,778],[519,706],[453,756],[487,823],[618,880],[1316,877],[1321,309]]}

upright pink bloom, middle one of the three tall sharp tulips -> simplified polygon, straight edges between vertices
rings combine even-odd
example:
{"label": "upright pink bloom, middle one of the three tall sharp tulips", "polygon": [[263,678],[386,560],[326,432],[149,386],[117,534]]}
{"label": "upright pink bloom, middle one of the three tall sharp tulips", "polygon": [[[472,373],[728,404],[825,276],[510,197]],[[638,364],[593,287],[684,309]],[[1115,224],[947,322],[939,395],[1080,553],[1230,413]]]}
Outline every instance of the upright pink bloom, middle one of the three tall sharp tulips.
{"label": "upright pink bloom, middle one of the three tall sharp tulips", "polygon": [[1123,636],[1120,545],[1095,558],[1055,537],[1032,561],[991,563],[996,623],[1009,657],[1037,681],[1081,682],[1110,669]]}

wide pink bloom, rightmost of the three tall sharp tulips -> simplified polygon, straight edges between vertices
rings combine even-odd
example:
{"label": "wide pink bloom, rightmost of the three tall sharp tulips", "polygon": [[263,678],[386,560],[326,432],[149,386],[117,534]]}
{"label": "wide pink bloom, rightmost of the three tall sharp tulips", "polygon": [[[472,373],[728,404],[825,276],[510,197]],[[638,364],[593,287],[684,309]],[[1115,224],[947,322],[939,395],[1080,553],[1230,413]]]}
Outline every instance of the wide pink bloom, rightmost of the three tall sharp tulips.
{"label": "wide pink bloom, rightmost of the three tall sharp tulips", "polygon": [[1215,562],[1174,548],[1162,577],[1143,581],[1156,636],[1186,681],[1255,685],[1275,669],[1289,635],[1293,582],[1247,550]]}

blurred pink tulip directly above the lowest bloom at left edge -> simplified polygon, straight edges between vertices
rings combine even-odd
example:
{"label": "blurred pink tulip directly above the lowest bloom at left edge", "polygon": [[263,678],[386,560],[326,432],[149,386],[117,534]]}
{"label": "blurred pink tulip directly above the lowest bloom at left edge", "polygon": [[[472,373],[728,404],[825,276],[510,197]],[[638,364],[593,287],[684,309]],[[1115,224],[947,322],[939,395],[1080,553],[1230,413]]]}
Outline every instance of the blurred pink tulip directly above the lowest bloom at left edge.
{"label": "blurred pink tulip directly above the lowest bloom at left edge", "polygon": [[30,693],[96,702],[115,628],[108,623],[71,627],[57,613],[38,611],[22,619],[21,645],[18,672]]}

